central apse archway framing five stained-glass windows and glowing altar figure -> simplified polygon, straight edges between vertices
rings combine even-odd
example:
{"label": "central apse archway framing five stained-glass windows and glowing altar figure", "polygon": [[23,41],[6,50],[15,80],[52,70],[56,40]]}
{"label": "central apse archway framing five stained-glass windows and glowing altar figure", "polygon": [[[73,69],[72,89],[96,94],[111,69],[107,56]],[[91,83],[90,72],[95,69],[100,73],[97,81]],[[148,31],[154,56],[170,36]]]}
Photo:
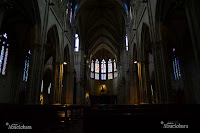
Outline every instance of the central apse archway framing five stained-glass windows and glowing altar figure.
{"label": "central apse archway framing five stained-glass windows and glowing altar figure", "polygon": [[[90,102],[94,104],[116,104],[117,102],[117,59],[107,44],[93,49],[87,68]],[[93,69],[92,69],[93,68]],[[86,97],[86,101],[88,101]]]}

